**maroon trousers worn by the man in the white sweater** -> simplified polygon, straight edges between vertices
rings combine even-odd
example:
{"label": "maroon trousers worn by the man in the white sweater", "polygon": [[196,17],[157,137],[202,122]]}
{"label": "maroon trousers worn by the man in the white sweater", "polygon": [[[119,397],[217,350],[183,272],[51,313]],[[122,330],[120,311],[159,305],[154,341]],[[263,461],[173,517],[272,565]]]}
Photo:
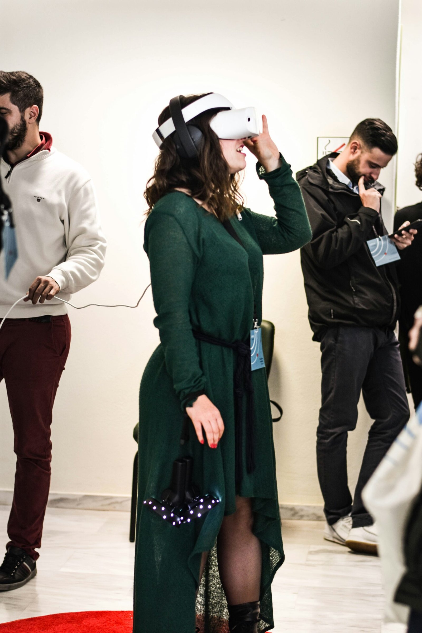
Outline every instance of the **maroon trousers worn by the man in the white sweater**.
{"label": "maroon trousers worn by the man in the white sweater", "polygon": [[8,546],[35,560],[50,487],[53,404],[69,347],[68,315],[47,323],[6,319],[0,330],[0,381],[6,383],[16,453]]}

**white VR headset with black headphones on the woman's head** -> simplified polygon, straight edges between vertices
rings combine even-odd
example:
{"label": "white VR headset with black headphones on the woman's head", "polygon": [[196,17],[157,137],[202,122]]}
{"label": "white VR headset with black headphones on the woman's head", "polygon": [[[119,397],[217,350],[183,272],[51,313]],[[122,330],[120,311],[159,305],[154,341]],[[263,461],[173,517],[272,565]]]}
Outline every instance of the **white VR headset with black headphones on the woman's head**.
{"label": "white VR headset with black headphones on the woman's head", "polygon": [[185,108],[180,107],[180,97],[170,101],[170,118],[164,121],[152,134],[152,138],[161,147],[164,139],[176,132],[174,140],[177,151],[185,158],[197,156],[202,132],[194,125],[187,125],[195,116],[202,112],[224,108],[218,112],[209,123],[219,139],[251,139],[261,132],[256,108],[233,108],[233,104],[221,94],[211,92],[201,99],[197,99]]}

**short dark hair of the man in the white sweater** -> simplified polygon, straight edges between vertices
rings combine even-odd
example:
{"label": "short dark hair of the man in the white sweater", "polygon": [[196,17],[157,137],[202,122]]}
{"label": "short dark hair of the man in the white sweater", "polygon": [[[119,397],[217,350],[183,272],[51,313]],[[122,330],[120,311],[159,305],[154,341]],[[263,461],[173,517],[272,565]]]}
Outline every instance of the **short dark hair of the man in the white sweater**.
{"label": "short dark hair of the man in the white sweater", "polygon": [[0,94],[9,93],[11,103],[14,106],[18,106],[21,114],[31,106],[38,106],[37,123],[40,122],[44,91],[42,90],[42,85],[35,77],[25,73],[23,70],[15,70],[13,72],[0,70]]}

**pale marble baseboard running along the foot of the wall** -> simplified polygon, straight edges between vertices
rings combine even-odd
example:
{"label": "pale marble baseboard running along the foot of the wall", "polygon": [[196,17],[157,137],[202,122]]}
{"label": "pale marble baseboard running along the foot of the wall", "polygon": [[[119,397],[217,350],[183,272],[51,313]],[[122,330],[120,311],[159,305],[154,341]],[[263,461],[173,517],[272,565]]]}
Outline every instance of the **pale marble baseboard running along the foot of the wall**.
{"label": "pale marble baseboard running along the foot of the wall", "polygon": [[[0,505],[10,506],[12,498],[12,490],[0,490]],[[47,505],[49,508],[68,508],[68,510],[117,510],[129,512],[130,496],[50,492]],[[280,517],[282,519],[303,521],[323,521],[324,513],[322,506],[288,505],[281,503]]]}

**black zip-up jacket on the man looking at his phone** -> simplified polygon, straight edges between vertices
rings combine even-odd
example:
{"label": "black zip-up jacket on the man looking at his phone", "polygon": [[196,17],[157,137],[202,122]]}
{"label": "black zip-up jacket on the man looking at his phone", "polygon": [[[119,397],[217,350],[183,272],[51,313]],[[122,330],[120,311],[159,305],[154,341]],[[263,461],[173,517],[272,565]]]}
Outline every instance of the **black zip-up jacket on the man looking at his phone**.
{"label": "black zip-up jacket on the man looking at his phone", "polygon": [[[313,340],[333,325],[394,329],[399,313],[395,264],[375,265],[366,242],[387,235],[381,213],[327,171],[330,154],[296,174],[312,229],[301,249]],[[379,182],[372,185],[384,192]]]}

